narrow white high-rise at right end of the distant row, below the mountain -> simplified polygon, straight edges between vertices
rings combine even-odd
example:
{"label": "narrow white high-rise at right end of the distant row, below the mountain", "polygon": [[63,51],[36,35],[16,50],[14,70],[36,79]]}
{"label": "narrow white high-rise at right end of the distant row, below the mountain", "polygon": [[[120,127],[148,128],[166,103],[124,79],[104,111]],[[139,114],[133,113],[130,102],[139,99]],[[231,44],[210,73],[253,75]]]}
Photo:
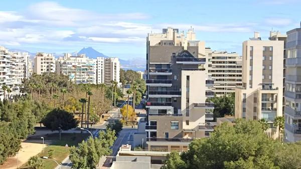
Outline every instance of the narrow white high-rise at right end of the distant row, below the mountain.
{"label": "narrow white high-rise at right end of the distant row, below the mountain", "polygon": [[118,58],[104,59],[104,83],[111,84],[111,80],[120,81],[120,62]]}

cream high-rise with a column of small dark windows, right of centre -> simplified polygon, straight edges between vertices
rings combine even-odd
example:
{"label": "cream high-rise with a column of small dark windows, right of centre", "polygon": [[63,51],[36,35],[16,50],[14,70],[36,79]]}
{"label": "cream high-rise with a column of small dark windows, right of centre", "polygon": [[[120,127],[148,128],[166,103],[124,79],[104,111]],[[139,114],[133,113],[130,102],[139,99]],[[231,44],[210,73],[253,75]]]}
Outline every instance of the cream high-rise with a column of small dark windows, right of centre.
{"label": "cream high-rise with a column of small dark windows, right of centre", "polygon": [[[242,87],[235,89],[235,118],[265,119],[272,126],[275,117],[282,116],[283,51],[283,40],[261,40],[256,32],[243,42]],[[273,138],[278,136],[274,129],[268,132]]]}

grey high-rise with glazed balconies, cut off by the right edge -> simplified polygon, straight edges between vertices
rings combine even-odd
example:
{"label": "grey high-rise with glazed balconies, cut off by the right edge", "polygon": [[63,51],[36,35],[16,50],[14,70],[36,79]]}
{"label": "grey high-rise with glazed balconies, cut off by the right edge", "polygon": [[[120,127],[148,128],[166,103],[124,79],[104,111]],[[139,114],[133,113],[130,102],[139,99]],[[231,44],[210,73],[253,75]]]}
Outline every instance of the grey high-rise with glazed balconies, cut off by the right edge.
{"label": "grey high-rise with glazed balconies, cut off by the right edge", "polygon": [[287,33],[284,141],[301,140],[301,28]]}

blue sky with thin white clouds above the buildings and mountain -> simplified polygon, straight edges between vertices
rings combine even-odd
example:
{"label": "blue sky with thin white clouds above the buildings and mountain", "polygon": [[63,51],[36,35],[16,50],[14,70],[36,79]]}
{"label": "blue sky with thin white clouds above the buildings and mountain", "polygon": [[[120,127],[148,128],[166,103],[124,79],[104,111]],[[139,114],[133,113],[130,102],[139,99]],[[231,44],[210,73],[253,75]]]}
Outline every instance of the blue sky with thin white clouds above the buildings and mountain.
{"label": "blue sky with thin white clouds above the buildings and mountain", "polygon": [[194,28],[217,51],[241,54],[254,31],[299,28],[300,0],[2,0],[0,46],[32,53],[71,53],[83,47],[122,59],[146,58],[147,33]]}

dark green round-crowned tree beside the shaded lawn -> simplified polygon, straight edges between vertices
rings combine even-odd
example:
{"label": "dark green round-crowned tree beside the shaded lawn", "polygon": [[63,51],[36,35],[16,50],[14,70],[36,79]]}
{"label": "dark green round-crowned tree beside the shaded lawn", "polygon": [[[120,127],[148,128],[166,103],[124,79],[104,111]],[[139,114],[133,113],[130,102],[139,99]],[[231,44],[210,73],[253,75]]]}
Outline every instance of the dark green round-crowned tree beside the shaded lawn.
{"label": "dark green round-crowned tree beside the shaded lawn", "polygon": [[59,130],[69,130],[77,127],[79,121],[74,119],[74,116],[63,110],[63,109],[53,109],[49,112],[46,117],[42,120],[44,126],[51,131]]}

